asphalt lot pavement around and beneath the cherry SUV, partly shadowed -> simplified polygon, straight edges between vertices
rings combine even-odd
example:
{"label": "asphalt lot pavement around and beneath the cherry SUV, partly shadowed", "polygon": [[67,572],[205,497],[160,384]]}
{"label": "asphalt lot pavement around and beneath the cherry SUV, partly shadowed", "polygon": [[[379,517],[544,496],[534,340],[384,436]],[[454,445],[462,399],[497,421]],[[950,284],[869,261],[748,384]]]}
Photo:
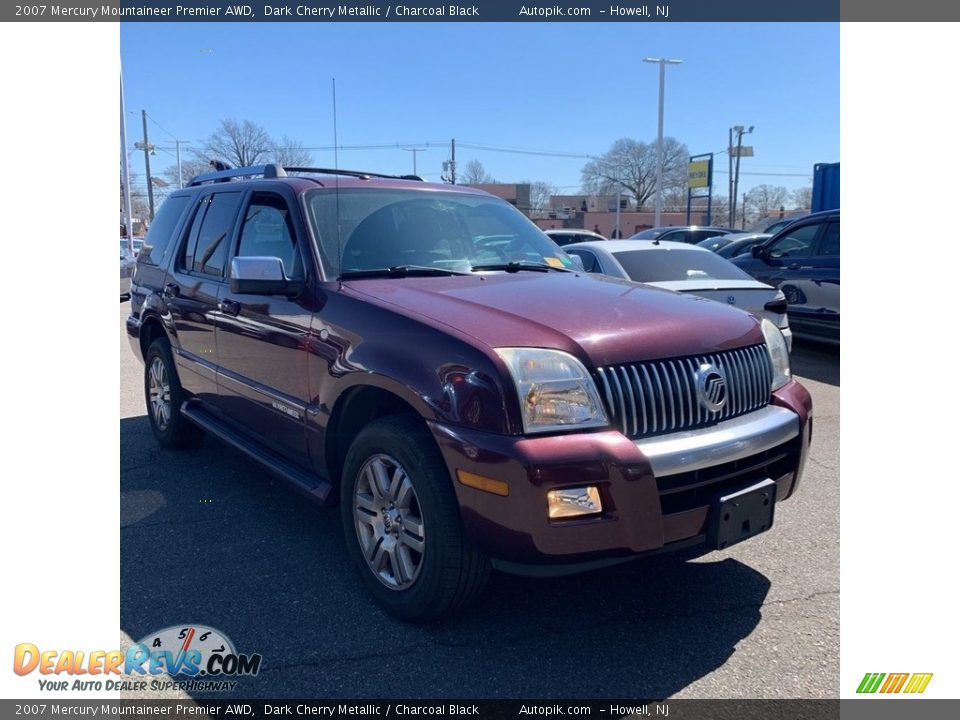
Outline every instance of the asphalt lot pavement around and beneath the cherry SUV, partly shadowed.
{"label": "asphalt lot pavement around and beneath the cherry SUV, partly shadowed", "polygon": [[[348,562],[339,514],[207,438],[160,450],[120,304],[120,621],[223,631],[260,653],[250,698],[836,698],[840,354],[795,341],[814,400],[798,493],[770,532],[549,580],[495,573],[461,616],[385,615]],[[217,695],[229,697],[229,694]]]}

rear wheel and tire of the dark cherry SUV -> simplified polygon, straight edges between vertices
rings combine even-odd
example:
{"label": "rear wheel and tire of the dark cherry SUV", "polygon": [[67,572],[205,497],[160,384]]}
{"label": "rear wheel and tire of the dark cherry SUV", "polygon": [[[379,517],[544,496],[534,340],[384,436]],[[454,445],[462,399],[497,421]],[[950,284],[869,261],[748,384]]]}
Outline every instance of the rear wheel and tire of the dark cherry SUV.
{"label": "rear wheel and tire of the dark cherry SUV", "polygon": [[150,428],[161,447],[196,447],[203,441],[203,431],[180,412],[180,406],[187,396],[180,386],[173,353],[166,338],[154,340],[147,350],[143,392]]}

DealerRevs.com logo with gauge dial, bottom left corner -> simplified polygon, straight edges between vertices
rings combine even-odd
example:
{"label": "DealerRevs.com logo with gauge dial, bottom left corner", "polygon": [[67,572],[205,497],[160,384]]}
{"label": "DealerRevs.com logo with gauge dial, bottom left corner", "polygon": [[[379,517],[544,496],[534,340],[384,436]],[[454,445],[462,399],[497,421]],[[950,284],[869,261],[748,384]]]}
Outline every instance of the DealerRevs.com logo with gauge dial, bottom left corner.
{"label": "DealerRevs.com logo with gauge dial, bottom left corner", "polygon": [[[41,690],[224,691],[234,678],[256,675],[263,658],[238,653],[230,638],[204,625],[174,625],[141,638],[123,650],[40,650],[33,643],[14,648],[13,671],[37,672]],[[61,679],[70,676],[73,679]],[[165,677],[160,677],[165,676]],[[176,678],[176,679],[169,679]]]}

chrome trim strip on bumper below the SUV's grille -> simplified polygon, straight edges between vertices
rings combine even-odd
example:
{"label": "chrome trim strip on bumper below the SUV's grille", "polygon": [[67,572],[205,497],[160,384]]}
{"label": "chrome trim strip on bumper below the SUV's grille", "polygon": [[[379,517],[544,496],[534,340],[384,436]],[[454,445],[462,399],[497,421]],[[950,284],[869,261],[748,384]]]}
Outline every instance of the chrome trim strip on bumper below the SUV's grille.
{"label": "chrome trim strip on bumper below the SUV's grille", "polygon": [[800,434],[800,418],[768,405],[709,428],[638,440],[657,477],[701,470],[756,455]]}

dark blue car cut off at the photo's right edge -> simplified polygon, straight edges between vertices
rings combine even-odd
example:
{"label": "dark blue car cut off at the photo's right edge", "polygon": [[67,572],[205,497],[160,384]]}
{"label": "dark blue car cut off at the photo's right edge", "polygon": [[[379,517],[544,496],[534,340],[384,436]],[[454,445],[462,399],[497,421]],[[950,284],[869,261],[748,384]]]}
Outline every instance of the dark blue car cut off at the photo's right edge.
{"label": "dark blue car cut off at the photo's right edge", "polygon": [[779,288],[797,337],[840,342],[840,211],[807,215],[732,261]]}

